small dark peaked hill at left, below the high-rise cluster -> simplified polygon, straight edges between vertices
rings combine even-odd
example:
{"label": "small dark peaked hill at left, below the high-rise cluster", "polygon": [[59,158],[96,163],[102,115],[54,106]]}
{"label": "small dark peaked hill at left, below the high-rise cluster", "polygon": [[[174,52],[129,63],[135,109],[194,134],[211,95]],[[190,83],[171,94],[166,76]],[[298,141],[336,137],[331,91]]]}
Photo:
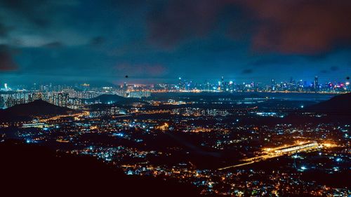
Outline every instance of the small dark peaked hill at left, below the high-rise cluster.
{"label": "small dark peaked hill at left, below the high-rise cluster", "polygon": [[33,116],[54,116],[69,114],[73,110],[58,107],[44,100],[35,100],[26,104],[18,104],[0,111],[0,121],[25,121]]}

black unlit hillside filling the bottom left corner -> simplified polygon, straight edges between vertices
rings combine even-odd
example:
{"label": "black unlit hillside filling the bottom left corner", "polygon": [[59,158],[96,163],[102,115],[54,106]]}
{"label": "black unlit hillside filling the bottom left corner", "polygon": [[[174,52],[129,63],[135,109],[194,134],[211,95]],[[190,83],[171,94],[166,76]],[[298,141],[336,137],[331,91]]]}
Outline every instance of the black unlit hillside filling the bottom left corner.
{"label": "black unlit hillside filling the bottom left corner", "polygon": [[35,196],[198,196],[173,180],[127,176],[89,156],[59,154],[18,141],[0,143],[1,193]]}

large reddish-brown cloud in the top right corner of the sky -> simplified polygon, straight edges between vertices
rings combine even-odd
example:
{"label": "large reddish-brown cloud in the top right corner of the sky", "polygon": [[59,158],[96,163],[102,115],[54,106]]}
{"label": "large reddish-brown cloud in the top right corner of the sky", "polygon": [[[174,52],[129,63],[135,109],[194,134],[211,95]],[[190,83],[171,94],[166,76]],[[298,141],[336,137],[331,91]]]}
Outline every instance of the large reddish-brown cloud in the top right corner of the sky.
{"label": "large reddish-brown cloud in the top right corner of the sky", "polygon": [[260,22],[255,50],[287,54],[326,53],[351,44],[351,1],[246,1]]}

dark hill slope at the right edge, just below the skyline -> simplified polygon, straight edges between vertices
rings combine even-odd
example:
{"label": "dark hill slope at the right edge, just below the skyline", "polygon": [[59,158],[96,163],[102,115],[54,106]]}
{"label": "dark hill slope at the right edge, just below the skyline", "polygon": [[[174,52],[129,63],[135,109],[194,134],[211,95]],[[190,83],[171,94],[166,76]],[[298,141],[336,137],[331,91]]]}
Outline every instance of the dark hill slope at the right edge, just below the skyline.
{"label": "dark hill slope at the right edge, just below the skyline", "polygon": [[351,116],[351,93],[337,95],[330,100],[307,107],[304,111]]}

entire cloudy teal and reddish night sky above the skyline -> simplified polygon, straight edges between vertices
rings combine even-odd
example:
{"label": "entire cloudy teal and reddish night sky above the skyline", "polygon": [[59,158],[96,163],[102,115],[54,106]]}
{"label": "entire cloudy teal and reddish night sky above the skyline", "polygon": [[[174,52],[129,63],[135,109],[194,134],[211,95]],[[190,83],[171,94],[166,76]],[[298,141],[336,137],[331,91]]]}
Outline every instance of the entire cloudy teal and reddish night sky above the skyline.
{"label": "entire cloudy teal and reddish night sky above the skyline", "polygon": [[0,83],[345,81],[350,0],[0,0]]}

